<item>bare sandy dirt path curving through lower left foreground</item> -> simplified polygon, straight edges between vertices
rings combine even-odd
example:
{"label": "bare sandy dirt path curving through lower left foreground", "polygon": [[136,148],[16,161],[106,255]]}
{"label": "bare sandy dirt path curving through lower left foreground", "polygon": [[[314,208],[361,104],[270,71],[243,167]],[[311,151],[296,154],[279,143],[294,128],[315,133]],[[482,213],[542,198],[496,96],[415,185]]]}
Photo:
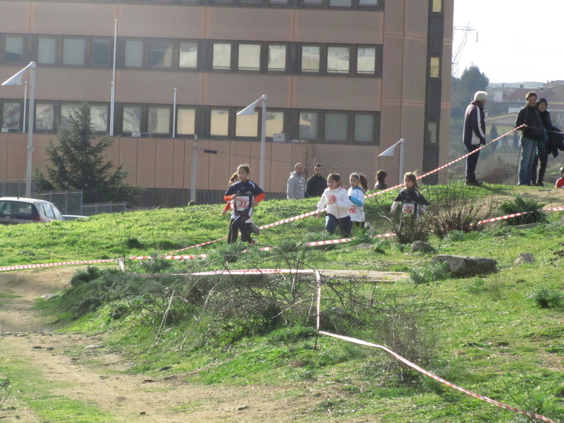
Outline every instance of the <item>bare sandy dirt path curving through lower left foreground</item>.
{"label": "bare sandy dirt path curving through lower left foreground", "polygon": [[[123,357],[99,348],[100,338],[56,333],[42,326],[39,313],[31,309],[36,298],[61,290],[77,269],[73,266],[0,273],[0,325],[4,326],[0,360],[29,362],[42,379],[66,386],[51,393],[96,405],[115,417],[111,422],[128,423],[306,422],[312,421],[313,407],[335,395],[331,386],[317,391],[307,381],[295,382],[291,387],[199,386],[167,372],[159,377],[124,374],[121,371],[127,364]],[[69,353],[77,348],[86,353],[76,357]],[[106,365],[94,366],[90,358]],[[11,382],[12,396],[17,398],[18,381]],[[289,396],[288,388],[305,395]],[[1,422],[44,423],[32,410],[20,405],[10,410],[10,402],[8,399],[6,409],[0,410]]]}

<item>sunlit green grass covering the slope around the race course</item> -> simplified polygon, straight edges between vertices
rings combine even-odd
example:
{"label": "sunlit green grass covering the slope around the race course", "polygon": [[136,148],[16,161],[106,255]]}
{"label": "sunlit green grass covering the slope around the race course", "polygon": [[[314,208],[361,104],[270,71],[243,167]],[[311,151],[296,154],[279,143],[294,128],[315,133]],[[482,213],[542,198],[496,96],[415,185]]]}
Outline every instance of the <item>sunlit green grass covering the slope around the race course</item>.
{"label": "sunlit green grass covering the slope around the race course", "polygon": [[[439,188],[426,188],[425,195],[431,204],[436,189]],[[505,195],[510,194],[510,188],[488,185],[481,192],[484,196]],[[378,216],[387,214],[394,195],[376,197],[367,206],[367,220],[375,222],[381,232],[387,231],[386,223]],[[254,217],[257,223],[266,224],[309,212],[314,207],[315,200],[273,200],[260,204]],[[190,251],[206,252],[207,259],[173,262],[169,266],[159,260],[128,265],[147,273],[224,266],[417,269],[422,275],[420,283],[405,279],[397,283],[358,283],[351,288],[343,281],[328,278],[323,289],[323,309],[331,310],[329,298],[336,301],[335,295],[340,293],[347,304],[348,297],[357,295],[356,298],[372,299],[383,309],[397,312],[393,316],[375,314],[364,326],[343,326],[348,334],[372,343],[385,343],[382,327],[389,324],[391,317],[406,319],[403,326],[409,326],[408,329],[413,317],[421,336],[428,332],[436,337],[431,338],[436,339],[434,355],[426,364],[431,372],[475,393],[559,420],[564,415],[564,309],[558,301],[548,308],[539,307],[536,298],[548,294],[558,298],[564,290],[564,228],[556,224],[561,215],[549,215],[549,223],[525,231],[489,226],[482,233],[455,233],[443,240],[431,237],[437,254],[496,259],[498,272],[490,275],[445,279],[429,267],[430,255],[407,253],[409,249],[395,240],[376,241],[367,250],[352,250],[346,244],[304,248],[301,244],[309,240],[330,238],[323,231],[322,219],[315,218],[264,230],[259,241],[276,247],[271,252],[259,252],[252,247],[243,252],[247,246],[226,246],[222,242]],[[48,256],[50,261],[64,261],[166,252],[221,238],[226,235],[226,226],[220,206],[96,216],[83,222],[44,226],[12,226],[0,228],[0,236],[5,240],[1,259],[4,264],[21,264]],[[40,246],[32,248],[30,240],[39,238]],[[22,250],[29,250],[33,256],[20,255]],[[515,265],[521,252],[531,252],[536,262]],[[54,308],[57,300],[42,300],[39,307],[49,310],[49,319],[66,322],[61,330],[106,331],[104,348],[123,353],[135,362],[130,372],[158,377],[161,367],[171,366],[167,372],[192,384],[266,384],[284,388],[281,395],[287,398],[309,398],[312,406],[302,410],[304,416],[296,415],[296,422],[325,422],[329,415],[336,422],[527,421],[427,376],[398,368],[394,366],[396,360],[382,350],[324,336],[316,338],[312,322],[259,331],[255,336],[231,337],[220,332],[215,343],[195,345],[189,336],[194,331],[194,319],[179,317],[178,324],[168,324],[166,331],[159,330],[171,289],[181,288],[184,282],[179,278],[144,278],[134,282],[133,286],[142,286],[145,291],[128,291],[127,285],[111,286],[107,297],[111,300],[78,320]],[[260,282],[247,279],[242,284]],[[160,288],[159,283],[163,284]],[[265,284],[264,290],[269,286]],[[120,289],[128,295],[116,295]],[[314,294],[313,284],[305,290],[306,294]],[[312,298],[303,304],[311,307]],[[360,312],[358,317],[367,319]],[[234,326],[233,330],[236,329]]]}

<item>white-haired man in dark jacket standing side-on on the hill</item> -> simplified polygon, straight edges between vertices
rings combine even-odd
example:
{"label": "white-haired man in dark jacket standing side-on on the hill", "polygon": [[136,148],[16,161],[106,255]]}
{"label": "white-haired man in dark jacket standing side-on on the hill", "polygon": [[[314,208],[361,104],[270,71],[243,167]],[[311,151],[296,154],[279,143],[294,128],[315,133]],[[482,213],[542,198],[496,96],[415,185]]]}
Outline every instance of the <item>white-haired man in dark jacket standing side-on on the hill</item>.
{"label": "white-haired man in dark jacket standing side-on on the hill", "polygon": [[[474,101],[466,108],[466,116],[464,118],[464,131],[462,133],[462,142],[466,147],[466,153],[471,153],[479,149],[481,145],[486,144],[486,122],[484,121],[484,104],[488,93],[478,91],[474,94]],[[479,186],[481,182],[476,180],[476,165],[480,152],[475,152],[466,157],[466,185]]]}

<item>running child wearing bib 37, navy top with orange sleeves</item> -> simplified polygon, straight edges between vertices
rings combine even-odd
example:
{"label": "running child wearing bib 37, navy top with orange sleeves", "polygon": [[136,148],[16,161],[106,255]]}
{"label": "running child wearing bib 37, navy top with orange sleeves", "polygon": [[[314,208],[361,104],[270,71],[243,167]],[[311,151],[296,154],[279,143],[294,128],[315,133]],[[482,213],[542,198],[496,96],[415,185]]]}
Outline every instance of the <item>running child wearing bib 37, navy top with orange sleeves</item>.
{"label": "running child wearing bib 37, navy top with orange sleeves", "polygon": [[264,191],[256,183],[249,180],[250,168],[247,164],[242,164],[237,168],[238,182],[231,185],[226,193],[224,200],[230,202],[233,200],[233,211],[231,212],[231,223],[229,223],[229,233],[227,235],[227,243],[235,243],[238,233],[241,233],[241,239],[246,243],[255,244],[255,240],[251,238],[251,225],[249,219],[252,216],[252,210],[259,202],[264,200]]}

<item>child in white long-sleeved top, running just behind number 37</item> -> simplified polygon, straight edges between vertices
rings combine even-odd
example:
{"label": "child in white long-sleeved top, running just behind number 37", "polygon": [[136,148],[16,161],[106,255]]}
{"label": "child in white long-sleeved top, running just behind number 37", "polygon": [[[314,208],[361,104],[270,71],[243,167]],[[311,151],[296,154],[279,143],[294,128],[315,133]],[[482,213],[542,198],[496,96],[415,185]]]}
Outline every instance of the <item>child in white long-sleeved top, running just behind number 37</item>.
{"label": "child in white long-sleeved top, running just behind number 37", "polygon": [[341,228],[343,238],[350,237],[350,230],[353,224],[350,221],[350,199],[348,192],[341,185],[341,176],[331,173],[327,176],[327,188],[321,195],[321,200],[317,203],[317,217],[321,216],[323,208],[327,206],[325,216],[325,228],[331,235],[337,226]]}

